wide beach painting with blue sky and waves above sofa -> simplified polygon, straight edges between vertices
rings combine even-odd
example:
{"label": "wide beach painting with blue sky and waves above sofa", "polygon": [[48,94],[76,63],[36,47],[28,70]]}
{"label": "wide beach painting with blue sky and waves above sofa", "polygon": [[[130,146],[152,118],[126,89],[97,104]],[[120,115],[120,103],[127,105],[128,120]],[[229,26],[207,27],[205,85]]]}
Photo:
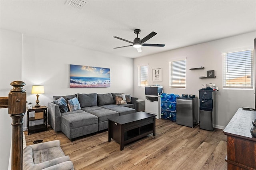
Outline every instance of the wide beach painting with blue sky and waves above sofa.
{"label": "wide beach painting with blue sky and waves above sofa", "polygon": [[70,64],[70,88],[110,87],[110,69]]}

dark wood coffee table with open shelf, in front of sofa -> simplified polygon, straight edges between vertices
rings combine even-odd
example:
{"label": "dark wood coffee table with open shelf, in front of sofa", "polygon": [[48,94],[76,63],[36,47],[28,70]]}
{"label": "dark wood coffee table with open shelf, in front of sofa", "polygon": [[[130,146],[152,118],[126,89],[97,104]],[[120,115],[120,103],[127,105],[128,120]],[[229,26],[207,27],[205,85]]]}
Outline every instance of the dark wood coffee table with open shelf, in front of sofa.
{"label": "dark wood coffee table with open shelf, in front of sofa", "polygon": [[153,133],[156,136],[156,115],[136,112],[108,119],[108,142],[111,138],[120,144],[120,150],[124,144]]}

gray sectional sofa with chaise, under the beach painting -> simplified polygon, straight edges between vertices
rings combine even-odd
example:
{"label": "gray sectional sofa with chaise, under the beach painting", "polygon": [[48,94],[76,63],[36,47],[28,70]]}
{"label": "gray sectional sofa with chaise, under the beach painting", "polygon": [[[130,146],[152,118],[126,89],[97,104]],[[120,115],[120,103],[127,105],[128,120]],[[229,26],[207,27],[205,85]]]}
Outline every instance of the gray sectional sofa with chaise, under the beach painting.
{"label": "gray sectional sofa with chaise, under the beach painting", "polygon": [[[126,95],[128,100],[123,102],[119,101],[120,96],[122,93],[78,93],[77,95],[53,96],[54,102],[48,103],[48,124],[56,132],[61,130],[71,141],[74,138],[107,129],[108,118],[136,112],[136,97]],[[55,104],[55,101],[61,97],[66,101],[77,98],[80,104],[79,109],[63,111],[63,108],[57,105],[58,103]]]}

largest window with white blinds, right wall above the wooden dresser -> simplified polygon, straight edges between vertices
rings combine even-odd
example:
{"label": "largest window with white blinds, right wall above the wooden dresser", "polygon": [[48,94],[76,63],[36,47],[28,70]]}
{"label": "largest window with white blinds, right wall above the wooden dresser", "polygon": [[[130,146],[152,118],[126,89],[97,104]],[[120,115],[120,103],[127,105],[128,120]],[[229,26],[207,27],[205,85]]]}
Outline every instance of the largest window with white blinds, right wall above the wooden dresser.
{"label": "largest window with white blinds, right wall above the wooden dresser", "polygon": [[224,53],[223,88],[253,89],[253,50]]}

